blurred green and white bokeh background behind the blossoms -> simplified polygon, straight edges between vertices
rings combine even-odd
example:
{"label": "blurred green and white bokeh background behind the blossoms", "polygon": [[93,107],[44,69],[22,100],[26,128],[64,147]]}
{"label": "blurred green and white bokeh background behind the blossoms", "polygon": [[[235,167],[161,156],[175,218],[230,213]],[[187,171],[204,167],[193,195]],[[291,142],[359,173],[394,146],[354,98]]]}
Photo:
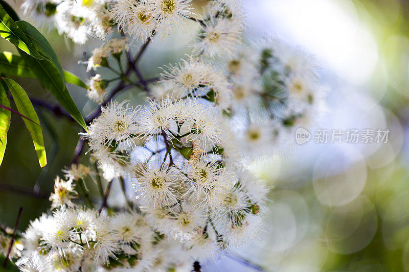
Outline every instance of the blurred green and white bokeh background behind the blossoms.
{"label": "blurred green and white bokeh background behind the blossoms", "polygon": [[[284,158],[257,163],[254,168],[274,186],[269,195],[270,213],[261,239],[237,254],[273,271],[409,270],[409,3],[243,2],[249,39],[278,35],[317,55],[323,81],[331,87],[331,110],[323,127],[389,128],[391,134],[387,144],[376,146],[311,142]],[[21,2],[9,3],[16,7]],[[196,1],[196,8],[202,3],[206,1]],[[189,22],[185,34],[154,40],[141,63],[144,75],[155,76],[158,66],[183,58],[196,30]],[[47,37],[63,68],[87,80],[85,68],[77,62],[99,42],[75,46],[56,31]],[[0,40],[0,48],[15,52],[4,40]],[[132,48],[136,51],[138,44]],[[30,95],[53,101],[35,80],[17,82]],[[73,86],[69,90],[84,115],[96,107],[87,103],[84,90]],[[122,98],[133,103],[144,99],[136,89],[121,94]],[[39,111],[42,124],[51,128],[43,126],[48,168],[40,169],[29,133],[16,115],[12,115],[0,166],[0,222],[13,226],[19,206],[23,206],[20,230],[49,208],[53,180],[62,175],[61,168],[69,166],[80,130],[74,122]],[[82,161],[89,164],[89,156]],[[42,198],[30,196],[36,183],[44,193]],[[87,184],[97,195],[92,180]],[[15,187],[24,188],[27,194],[15,192]],[[224,259],[217,269],[245,271]]]}

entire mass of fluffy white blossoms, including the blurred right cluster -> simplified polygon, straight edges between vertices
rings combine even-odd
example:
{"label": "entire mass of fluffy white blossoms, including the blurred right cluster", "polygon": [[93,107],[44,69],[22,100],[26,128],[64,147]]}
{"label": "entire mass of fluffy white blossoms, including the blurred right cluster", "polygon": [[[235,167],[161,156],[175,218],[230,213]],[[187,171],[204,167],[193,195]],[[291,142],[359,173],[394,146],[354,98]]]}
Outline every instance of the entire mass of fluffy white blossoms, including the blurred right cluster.
{"label": "entire mass of fluffy white blossoms, including the blurred right cluster", "polygon": [[[248,162],[288,152],[297,127],[323,118],[326,88],[312,56],[278,39],[243,41],[240,0],[208,1],[201,15],[192,13],[191,0],[26,0],[22,7],[77,43],[90,33],[105,38],[115,26],[129,36],[109,39],[87,62],[87,71],[98,71],[87,96],[100,106],[82,137],[95,172],[73,164],[65,180],[56,178],[52,213],[22,235],[24,250],[15,255],[22,270],[190,270],[256,239],[268,187]],[[191,53],[144,80],[137,62],[147,44],[156,34],[183,31],[188,19],[199,28]],[[135,38],[145,44],[132,59]],[[118,77],[106,79],[100,67]],[[121,83],[108,96],[114,80]],[[126,88],[145,91],[147,102],[108,100]],[[89,176],[101,201],[88,194]],[[116,180],[126,201],[108,205]],[[125,184],[133,185],[132,200]]]}

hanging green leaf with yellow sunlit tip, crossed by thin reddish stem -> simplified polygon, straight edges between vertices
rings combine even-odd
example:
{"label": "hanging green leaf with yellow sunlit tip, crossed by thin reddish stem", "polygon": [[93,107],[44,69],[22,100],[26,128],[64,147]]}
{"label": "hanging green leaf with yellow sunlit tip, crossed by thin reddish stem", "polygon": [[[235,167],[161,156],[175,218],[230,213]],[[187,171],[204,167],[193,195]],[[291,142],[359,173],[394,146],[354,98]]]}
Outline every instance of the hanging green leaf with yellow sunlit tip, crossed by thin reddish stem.
{"label": "hanging green leaf with yellow sunlit tip, crossed by thin reddish stem", "polygon": [[[49,62],[50,63],[50,62]],[[6,83],[8,89],[13,95],[14,103],[16,104],[17,110],[22,115],[27,116],[36,123],[40,123],[37,113],[34,110],[33,104],[31,104],[29,97],[24,89],[21,88],[14,80],[2,78]],[[46,149],[44,149],[44,141],[42,138],[41,127],[35,123],[23,118],[22,119],[26,124],[27,129],[30,132],[31,138],[34,142],[34,147],[37,152],[38,161],[41,167],[46,166],[47,157]]]}

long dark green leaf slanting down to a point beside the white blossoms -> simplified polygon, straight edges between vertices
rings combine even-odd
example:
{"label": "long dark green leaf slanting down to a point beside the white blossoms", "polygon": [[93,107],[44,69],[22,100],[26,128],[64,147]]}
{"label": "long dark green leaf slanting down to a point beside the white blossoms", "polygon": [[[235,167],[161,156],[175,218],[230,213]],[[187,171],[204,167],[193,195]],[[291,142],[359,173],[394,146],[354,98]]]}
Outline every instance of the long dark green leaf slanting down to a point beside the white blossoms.
{"label": "long dark green leaf slanting down to a point beside the white blossoms", "polygon": [[75,105],[73,98],[67,88],[60,88],[62,81],[58,69],[50,61],[42,61],[30,57],[25,52],[19,50],[19,54],[24,56],[25,62],[30,66],[38,80],[57,98],[58,102],[63,106],[73,118],[87,131],[84,118]]}

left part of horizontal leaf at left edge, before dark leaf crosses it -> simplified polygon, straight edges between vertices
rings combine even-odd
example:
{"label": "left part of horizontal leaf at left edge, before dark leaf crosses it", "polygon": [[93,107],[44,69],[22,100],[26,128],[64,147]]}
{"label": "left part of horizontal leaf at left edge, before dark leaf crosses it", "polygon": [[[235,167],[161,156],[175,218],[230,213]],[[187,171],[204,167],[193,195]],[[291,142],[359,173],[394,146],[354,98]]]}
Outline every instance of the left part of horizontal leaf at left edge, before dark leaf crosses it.
{"label": "left part of horizontal leaf at left edge, before dark leaf crosses it", "polygon": [[30,67],[18,55],[10,52],[0,53],[0,71],[8,76],[36,78]]}

